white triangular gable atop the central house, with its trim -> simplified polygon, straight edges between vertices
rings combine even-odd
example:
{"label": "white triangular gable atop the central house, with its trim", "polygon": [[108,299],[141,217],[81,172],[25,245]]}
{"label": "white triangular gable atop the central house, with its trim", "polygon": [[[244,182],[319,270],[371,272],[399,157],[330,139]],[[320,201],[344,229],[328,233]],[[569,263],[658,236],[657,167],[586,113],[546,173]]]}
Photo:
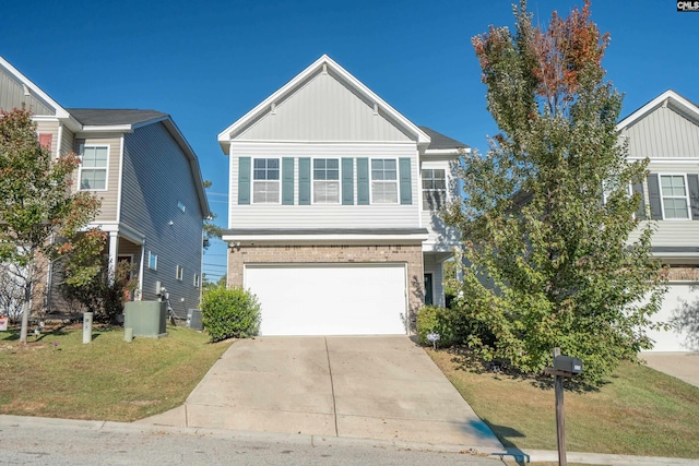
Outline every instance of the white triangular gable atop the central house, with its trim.
{"label": "white triangular gable atop the central house, with its trim", "polygon": [[234,140],[414,141],[420,150],[430,142],[424,131],[325,55],[218,134],[225,153]]}

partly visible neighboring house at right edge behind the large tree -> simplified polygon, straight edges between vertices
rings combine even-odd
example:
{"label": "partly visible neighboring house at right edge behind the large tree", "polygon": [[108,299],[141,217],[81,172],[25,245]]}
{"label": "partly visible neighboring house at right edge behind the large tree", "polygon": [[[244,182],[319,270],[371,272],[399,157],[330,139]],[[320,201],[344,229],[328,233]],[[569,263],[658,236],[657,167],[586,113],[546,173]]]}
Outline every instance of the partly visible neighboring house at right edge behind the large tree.
{"label": "partly visible neighboring house at right edge behind the large tree", "polygon": [[667,91],[624,118],[617,131],[630,162],[650,160],[650,175],[633,186],[643,199],[637,215],[650,212],[653,254],[670,266],[668,291],[653,319],[679,319],[674,328],[650,334],[653,350],[699,350],[699,107]]}

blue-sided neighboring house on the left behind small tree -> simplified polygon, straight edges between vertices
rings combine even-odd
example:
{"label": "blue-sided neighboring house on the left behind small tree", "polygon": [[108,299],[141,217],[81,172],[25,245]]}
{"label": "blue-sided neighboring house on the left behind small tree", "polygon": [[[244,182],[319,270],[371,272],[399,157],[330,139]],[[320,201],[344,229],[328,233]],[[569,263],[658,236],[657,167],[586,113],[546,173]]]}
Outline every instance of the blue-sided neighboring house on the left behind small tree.
{"label": "blue-sided neighboring house on the left behind small tree", "polygon": [[[74,151],[82,158],[73,187],[102,200],[90,227],[109,234],[110,266],[123,260],[135,264],[135,298],[155,300],[163,286],[176,313],[196,308],[209,204],[197,155],[170,116],[64,108],[0,57],[0,108],[23,105],[42,144],[52,154]],[[55,279],[60,274],[54,272],[46,307],[63,311]]]}

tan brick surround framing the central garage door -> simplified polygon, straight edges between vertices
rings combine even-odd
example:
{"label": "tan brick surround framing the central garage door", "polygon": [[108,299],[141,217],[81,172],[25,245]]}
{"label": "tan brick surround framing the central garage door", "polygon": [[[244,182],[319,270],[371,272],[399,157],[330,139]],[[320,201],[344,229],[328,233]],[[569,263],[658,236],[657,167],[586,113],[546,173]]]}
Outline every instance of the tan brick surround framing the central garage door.
{"label": "tan brick surround framing the central garage door", "polygon": [[405,263],[407,264],[408,321],[415,331],[417,310],[424,303],[423,247],[381,246],[242,246],[228,250],[228,286],[242,285],[245,264],[289,263]]}

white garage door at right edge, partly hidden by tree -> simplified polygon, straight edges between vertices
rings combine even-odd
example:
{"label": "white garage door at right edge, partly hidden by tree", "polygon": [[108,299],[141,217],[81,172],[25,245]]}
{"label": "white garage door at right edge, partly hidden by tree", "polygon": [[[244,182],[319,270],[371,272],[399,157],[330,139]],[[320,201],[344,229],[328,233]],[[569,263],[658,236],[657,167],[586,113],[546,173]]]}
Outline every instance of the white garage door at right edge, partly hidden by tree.
{"label": "white garage door at right edge, partly hidden by tree", "polygon": [[652,316],[654,322],[670,322],[678,318],[683,324],[668,331],[649,332],[655,340],[653,351],[696,351],[697,325],[699,325],[699,287],[697,285],[670,285],[663,298],[661,311]]}

